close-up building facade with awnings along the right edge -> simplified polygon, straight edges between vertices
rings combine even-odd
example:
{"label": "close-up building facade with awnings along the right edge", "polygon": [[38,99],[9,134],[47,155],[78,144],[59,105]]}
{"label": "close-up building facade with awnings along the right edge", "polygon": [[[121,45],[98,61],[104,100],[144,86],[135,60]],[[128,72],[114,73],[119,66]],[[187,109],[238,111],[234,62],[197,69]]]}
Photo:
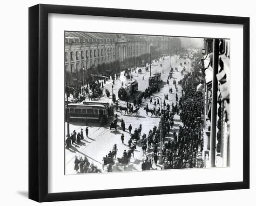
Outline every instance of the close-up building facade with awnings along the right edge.
{"label": "close-up building facade with awnings along the right edge", "polygon": [[[215,49],[213,39],[205,39],[204,42],[203,158],[206,167],[225,167],[229,166],[230,40],[217,40]],[[216,57],[215,62],[213,56]]]}

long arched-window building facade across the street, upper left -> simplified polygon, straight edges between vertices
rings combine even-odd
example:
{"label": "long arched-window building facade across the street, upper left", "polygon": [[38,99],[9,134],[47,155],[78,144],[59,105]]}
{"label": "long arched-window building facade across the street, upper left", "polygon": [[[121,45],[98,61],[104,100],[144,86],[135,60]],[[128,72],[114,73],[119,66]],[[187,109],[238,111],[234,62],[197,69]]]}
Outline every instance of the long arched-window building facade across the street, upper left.
{"label": "long arched-window building facade across the street, upper left", "polygon": [[65,72],[78,73],[82,68],[150,53],[150,41],[136,35],[66,32]]}

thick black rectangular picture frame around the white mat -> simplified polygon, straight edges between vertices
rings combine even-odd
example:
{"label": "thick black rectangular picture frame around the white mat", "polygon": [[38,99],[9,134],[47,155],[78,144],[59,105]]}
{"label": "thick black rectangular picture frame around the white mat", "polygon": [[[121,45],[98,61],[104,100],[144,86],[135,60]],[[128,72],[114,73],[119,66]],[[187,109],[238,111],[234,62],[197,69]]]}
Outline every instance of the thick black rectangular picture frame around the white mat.
{"label": "thick black rectangular picture frame around the white mat", "polygon": [[[243,25],[243,181],[184,186],[157,186],[83,192],[48,193],[47,16],[49,13]],[[38,202],[48,202],[249,188],[249,115],[248,17],[44,4],[35,5],[29,8],[29,199],[33,199]]]}

